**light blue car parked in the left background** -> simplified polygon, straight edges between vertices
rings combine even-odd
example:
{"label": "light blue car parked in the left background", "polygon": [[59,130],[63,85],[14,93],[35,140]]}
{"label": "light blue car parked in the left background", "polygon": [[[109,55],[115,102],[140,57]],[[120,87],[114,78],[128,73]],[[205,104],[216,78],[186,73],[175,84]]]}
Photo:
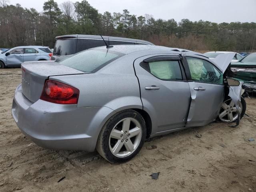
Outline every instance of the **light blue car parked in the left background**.
{"label": "light blue car parked in the left background", "polygon": [[20,66],[26,61],[50,60],[52,50],[45,46],[19,46],[0,54],[0,68]]}

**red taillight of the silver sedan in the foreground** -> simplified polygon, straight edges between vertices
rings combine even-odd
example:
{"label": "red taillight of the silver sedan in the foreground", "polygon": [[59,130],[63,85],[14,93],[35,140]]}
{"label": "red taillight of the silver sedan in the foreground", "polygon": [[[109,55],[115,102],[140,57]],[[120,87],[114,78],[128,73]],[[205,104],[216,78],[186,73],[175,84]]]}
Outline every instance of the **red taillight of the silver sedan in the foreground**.
{"label": "red taillight of the silver sedan in the foreground", "polygon": [[70,85],[46,80],[40,99],[57,104],[77,104],[79,90]]}

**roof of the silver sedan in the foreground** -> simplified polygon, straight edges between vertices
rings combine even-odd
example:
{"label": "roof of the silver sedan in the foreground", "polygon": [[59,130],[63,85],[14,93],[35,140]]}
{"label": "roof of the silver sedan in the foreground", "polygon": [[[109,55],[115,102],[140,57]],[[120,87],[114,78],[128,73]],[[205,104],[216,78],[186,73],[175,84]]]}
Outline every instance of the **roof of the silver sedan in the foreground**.
{"label": "roof of the silver sedan in the foreground", "polygon": [[120,52],[122,54],[131,54],[131,53],[140,52],[140,51],[148,52],[149,54],[154,52],[162,52],[166,54],[181,54],[186,52],[186,54],[195,54],[195,55],[199,55],[207,58],[206,56],[198,52],[193,52],[186,49],[170,48],[170,47],[156,46],[156,45],[114,45],[111,48],[106,48],[106,46],[101,46],[101,47],[96,47],[92,49],[111,50],[115,52]]}

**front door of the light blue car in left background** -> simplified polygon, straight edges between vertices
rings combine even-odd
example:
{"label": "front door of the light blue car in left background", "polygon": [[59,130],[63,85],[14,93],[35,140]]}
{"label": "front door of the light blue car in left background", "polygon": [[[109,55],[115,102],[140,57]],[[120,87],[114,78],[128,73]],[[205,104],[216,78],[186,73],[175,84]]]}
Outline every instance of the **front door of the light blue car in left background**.
{"label": "front door of the light blue car in left background", "polygon": [[19,66],[23,62],[23,48],[11,50],[6,56],[6,63],[8,66]]}

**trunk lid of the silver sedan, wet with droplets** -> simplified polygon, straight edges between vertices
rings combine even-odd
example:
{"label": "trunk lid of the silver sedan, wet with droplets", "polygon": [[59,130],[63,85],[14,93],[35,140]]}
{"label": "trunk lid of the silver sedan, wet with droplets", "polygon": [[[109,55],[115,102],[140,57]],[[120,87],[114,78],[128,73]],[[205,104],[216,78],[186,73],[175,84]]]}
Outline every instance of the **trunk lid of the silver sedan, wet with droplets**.
{"label": "trunk lid of the silver sedan, wet with droplets", "polygon": [[22,93],[31,102],[36,102],[40,98],[44,82],[49,76],[85,73],[51,61],[25,62],[21,67]]}

